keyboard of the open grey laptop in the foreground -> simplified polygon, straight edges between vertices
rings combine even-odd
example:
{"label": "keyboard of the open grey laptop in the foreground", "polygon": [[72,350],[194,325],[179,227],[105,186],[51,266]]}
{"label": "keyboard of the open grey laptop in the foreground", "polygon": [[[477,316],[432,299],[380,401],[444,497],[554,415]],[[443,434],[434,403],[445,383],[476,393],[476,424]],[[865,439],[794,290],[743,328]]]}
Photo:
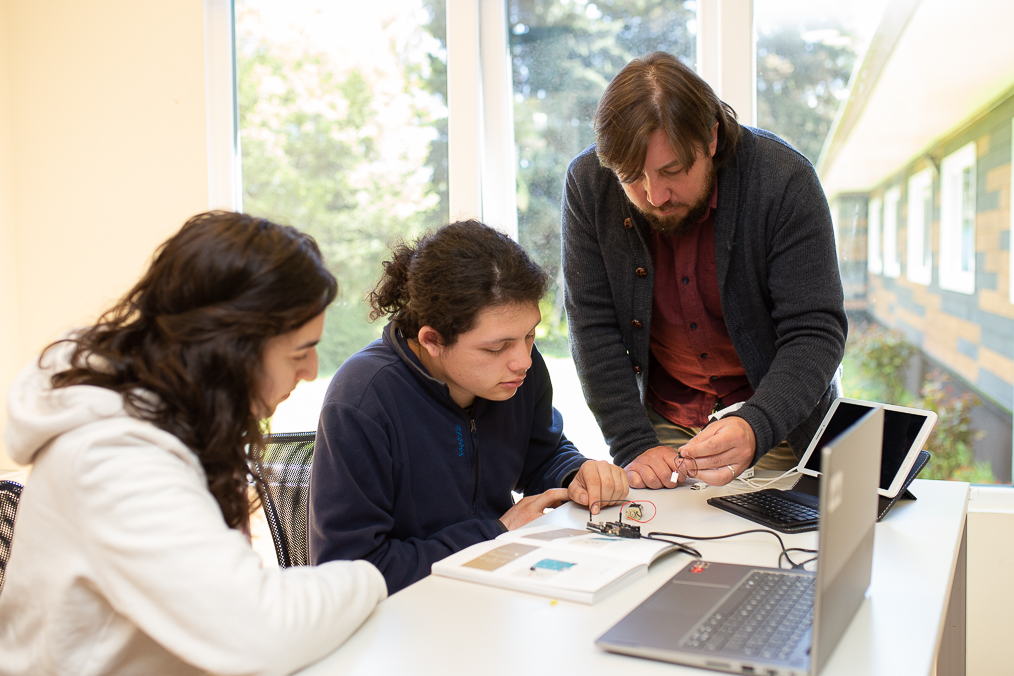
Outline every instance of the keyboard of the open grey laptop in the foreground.
{"label": "keyboard of the open grey laptop in the foreground", "polygon": [[[745,598],[726,602],[683,645],[707,652],[786,660],[813,622],[815,576],[754,571]],[[740,598],[735,595],[735,598]]]}

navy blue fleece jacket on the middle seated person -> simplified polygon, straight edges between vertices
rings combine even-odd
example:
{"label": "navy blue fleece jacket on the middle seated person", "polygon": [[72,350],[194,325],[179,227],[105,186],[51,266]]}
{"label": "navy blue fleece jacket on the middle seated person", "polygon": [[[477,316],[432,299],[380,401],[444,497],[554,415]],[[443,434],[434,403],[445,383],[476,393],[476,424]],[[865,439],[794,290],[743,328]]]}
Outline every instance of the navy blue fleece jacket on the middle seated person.
{"label": "navy blue fleece jacket on the middle seated person", "polygon": [[563,486],[587,460],[563,434],[537,349],[513,397],[470,412],[401,332],[350,357],[328,388],[310,474],[310,562],[364,558],[390,594],[459,549],[503,532],[526,496]]}

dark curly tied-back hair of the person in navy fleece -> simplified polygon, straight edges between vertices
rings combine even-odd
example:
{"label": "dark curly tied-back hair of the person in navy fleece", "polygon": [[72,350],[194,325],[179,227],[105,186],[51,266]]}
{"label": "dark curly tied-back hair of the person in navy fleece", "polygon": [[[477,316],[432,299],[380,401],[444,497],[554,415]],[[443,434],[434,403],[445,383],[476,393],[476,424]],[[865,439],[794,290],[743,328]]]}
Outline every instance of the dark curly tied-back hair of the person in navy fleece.
{"label": "dark curly tied-back hair of the person in navy fleece", "polygon": [[383,276],[370,292],[370,319],[391,315],[416,339],[432,326],[445,346],[472,329],[487,307],[537,303],[549,276],[521,245],[479,221],[458,221],[420,237],[415,247],[391,246]]}

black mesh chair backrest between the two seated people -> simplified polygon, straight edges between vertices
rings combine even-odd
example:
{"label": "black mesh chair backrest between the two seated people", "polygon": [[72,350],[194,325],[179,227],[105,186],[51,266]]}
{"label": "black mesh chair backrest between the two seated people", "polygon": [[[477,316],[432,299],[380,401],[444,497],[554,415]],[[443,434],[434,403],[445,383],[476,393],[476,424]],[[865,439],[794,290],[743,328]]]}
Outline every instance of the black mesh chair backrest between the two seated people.
{"label": "black mesh chair backrest between the two seated people", "polygon": [[306,521],[315,435],[298,432],[264,438],[258,491],[281,568],[309,562]]}

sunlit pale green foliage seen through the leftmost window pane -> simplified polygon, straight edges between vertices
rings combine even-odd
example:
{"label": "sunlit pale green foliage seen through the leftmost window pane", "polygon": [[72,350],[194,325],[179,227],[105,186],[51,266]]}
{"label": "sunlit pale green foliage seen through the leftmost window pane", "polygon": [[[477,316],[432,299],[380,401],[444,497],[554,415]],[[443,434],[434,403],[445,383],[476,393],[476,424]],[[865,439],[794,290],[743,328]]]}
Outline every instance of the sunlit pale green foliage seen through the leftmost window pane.
{"label": "sunlit pale green foliage seen through the leftmost window pane", "polygon": [[[391,50],[406,40],[395,28]],[[445,75],[433,70],[439,55],[418,49],[397,52],[393,73],[336,64],[273,42],[242,6],[236,36],[243,209],[313,235],[338,277],[318,347],[320,372],[332,373],[379,336],[383,322],[368,323],[363,299],[388,243],[447,218],[446,119],[430,81]],[[441,134],[442,173],[431,147]]]}

